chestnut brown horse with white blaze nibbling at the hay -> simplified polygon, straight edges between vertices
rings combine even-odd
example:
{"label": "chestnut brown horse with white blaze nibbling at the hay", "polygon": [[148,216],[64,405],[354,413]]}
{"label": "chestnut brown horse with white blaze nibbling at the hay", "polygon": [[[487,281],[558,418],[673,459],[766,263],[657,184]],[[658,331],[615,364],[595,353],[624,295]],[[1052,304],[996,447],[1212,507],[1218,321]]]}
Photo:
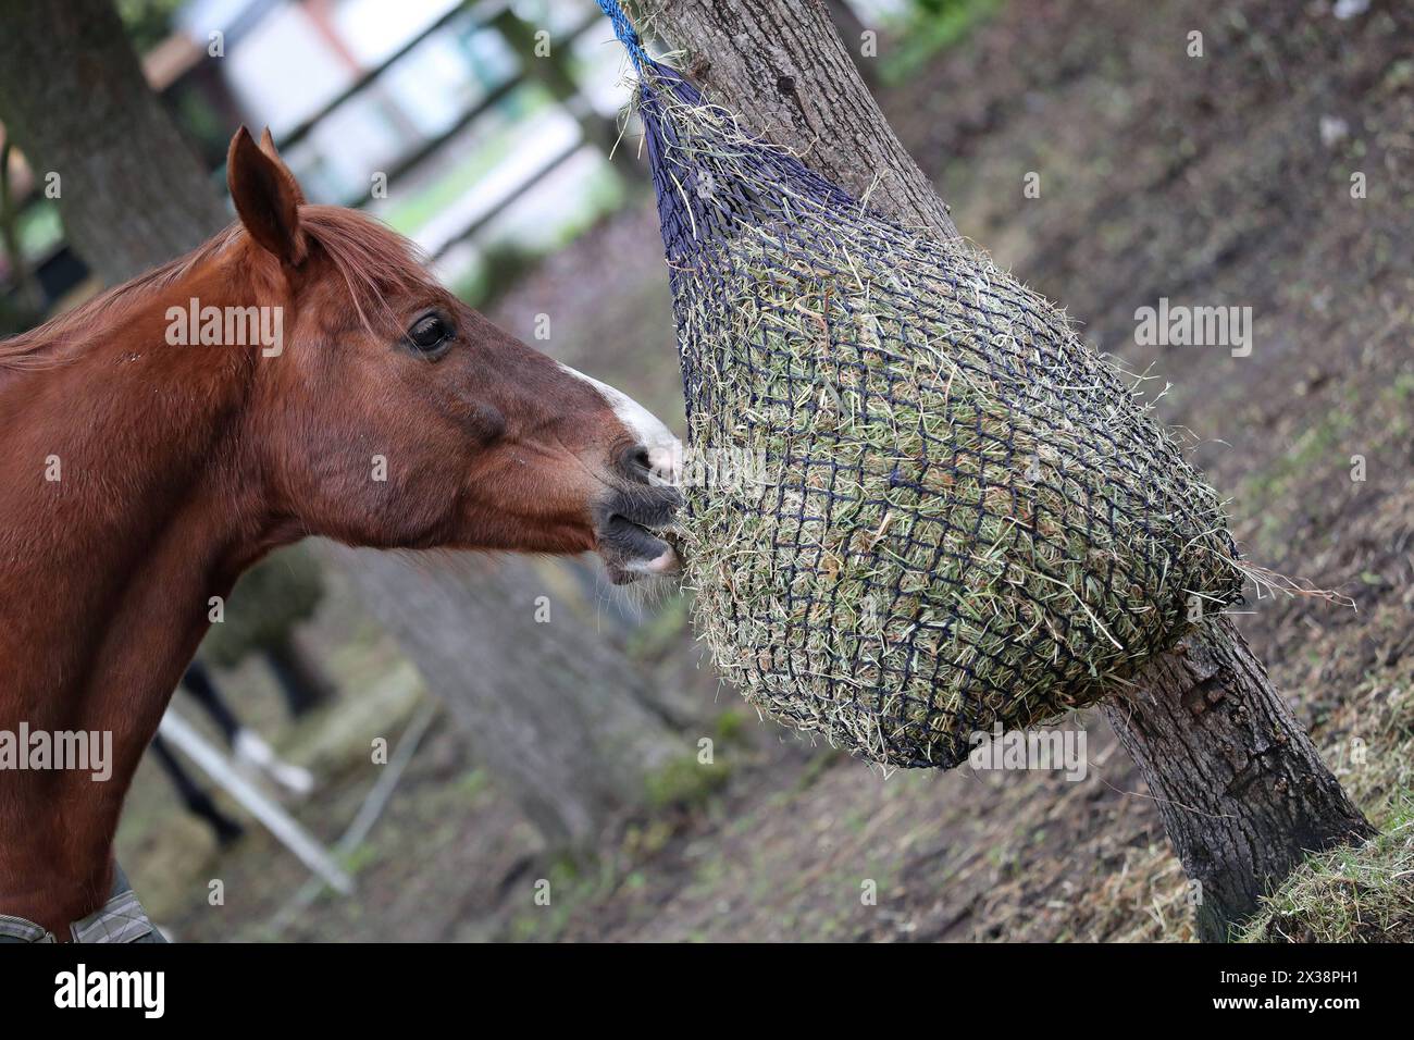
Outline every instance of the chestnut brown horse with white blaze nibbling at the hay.
{"label": "chestnut brown horse with white blaze nibbling at the hay", "polygon": [[461,304],[392,231],[307,205],[269,132],[235,136],[228,183],[225,232],[0,344],[0,733],[112,733],[106,780],[0,770],[0,913],[61,938],[107,897],[212,597],[273,548],[676,566],[648,531],[679,501],[662,423]]}

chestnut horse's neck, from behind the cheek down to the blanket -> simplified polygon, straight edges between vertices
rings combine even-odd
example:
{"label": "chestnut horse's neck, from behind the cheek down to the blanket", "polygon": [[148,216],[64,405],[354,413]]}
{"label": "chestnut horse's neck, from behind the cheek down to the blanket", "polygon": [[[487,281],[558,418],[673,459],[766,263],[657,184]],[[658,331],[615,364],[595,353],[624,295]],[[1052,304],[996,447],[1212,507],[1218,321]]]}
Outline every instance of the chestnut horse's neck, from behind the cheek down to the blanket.
{"label": "chestnut horse's neck, from behind the cheek down to the blanket", "polygon": [[0,913],[58,934],[106,899],[137,761],[209,599],[257,552],[240,439],[253,354],[165,341],[174,301],[249,291],[208,265],[0,383],[0,730],[112,734],[106,780],[10,773],[0,798]]}

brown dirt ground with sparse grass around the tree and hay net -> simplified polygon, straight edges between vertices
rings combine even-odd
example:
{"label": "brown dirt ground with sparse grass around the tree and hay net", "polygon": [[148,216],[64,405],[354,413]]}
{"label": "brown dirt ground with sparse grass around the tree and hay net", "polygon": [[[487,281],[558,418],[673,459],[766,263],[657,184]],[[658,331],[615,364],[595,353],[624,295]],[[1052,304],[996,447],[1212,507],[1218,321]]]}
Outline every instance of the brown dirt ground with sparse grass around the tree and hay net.
{"label": "brown dirt ground with sparse grass around the tree and hay net", "polygon": [[[1186,54],[1193,30],[1202,58]],[[1168,385],[1159,412],[1196,437],[1247,555],[1355,601],[1253,600],[1241,627],[1379,822],[1397,792],[1348,751],[1359,737],[1376,763],[1398,754],[1414,724],[1386,709],[1414,662],[1414,14],[1380,0],[1352,20],[1319,0],[1012,0],[881,100],[964,233],[1152,375],[1152,392]],[[656,235],[652,207],[631,207],[492,317],[529,338],[537,313],[573,316],[553,342],[566,361],[680,415]],[[1159,297],[1251,307],[1250,357],[1137,347],[1134,311]],[[423,698],[355,606],[337,601],[304,638],[366,686],[346,691],[337,726],[276,727],[321,774],[296,812],[332,842],[375,780],[366,740],[396,744]],[[349,855],[356,897],[291,904],[298,863],[255,826],[218,853],[150,765],[122,859],[184,940],[1192,938],[1182,872],[1099,717],[1082,719],[1082,782],[882,780],[718,689],[680,604],[631,647],[700,702],[730,775],[626,821],[597,859],[546,856],[450,724],[431,727]],[[247,671],[230,681],[274,726],[269,681]],[[208,901],[216,877],[222,907]],[[540,879],[549,907],[533,900]]]}

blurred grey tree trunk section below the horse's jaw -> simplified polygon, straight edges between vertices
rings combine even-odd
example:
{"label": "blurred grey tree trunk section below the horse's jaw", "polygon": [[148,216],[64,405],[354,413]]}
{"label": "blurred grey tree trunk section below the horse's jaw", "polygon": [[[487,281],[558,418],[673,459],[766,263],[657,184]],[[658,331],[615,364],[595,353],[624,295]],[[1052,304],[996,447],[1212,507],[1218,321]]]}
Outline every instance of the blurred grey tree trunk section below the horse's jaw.
{"label": "blurred grey tree trunk section below the horse's jaw", "polygon": [[595,839],[686,754],[643,675],[529,560],[324,548],[551,845]]}

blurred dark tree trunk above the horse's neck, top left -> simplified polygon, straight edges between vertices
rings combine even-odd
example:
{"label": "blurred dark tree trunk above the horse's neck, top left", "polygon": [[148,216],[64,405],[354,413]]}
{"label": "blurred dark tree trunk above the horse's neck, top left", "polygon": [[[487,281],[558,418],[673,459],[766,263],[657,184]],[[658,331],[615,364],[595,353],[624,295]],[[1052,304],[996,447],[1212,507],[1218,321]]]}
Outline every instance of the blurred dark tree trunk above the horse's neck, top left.
{"label": "blurred dark tree trunk above the horse's neck, top left", "polygon": [[37,187],[58,190],[65,238],[103,282],[165,263],[230,219],[112,0],[0,0],[0,119]]}

